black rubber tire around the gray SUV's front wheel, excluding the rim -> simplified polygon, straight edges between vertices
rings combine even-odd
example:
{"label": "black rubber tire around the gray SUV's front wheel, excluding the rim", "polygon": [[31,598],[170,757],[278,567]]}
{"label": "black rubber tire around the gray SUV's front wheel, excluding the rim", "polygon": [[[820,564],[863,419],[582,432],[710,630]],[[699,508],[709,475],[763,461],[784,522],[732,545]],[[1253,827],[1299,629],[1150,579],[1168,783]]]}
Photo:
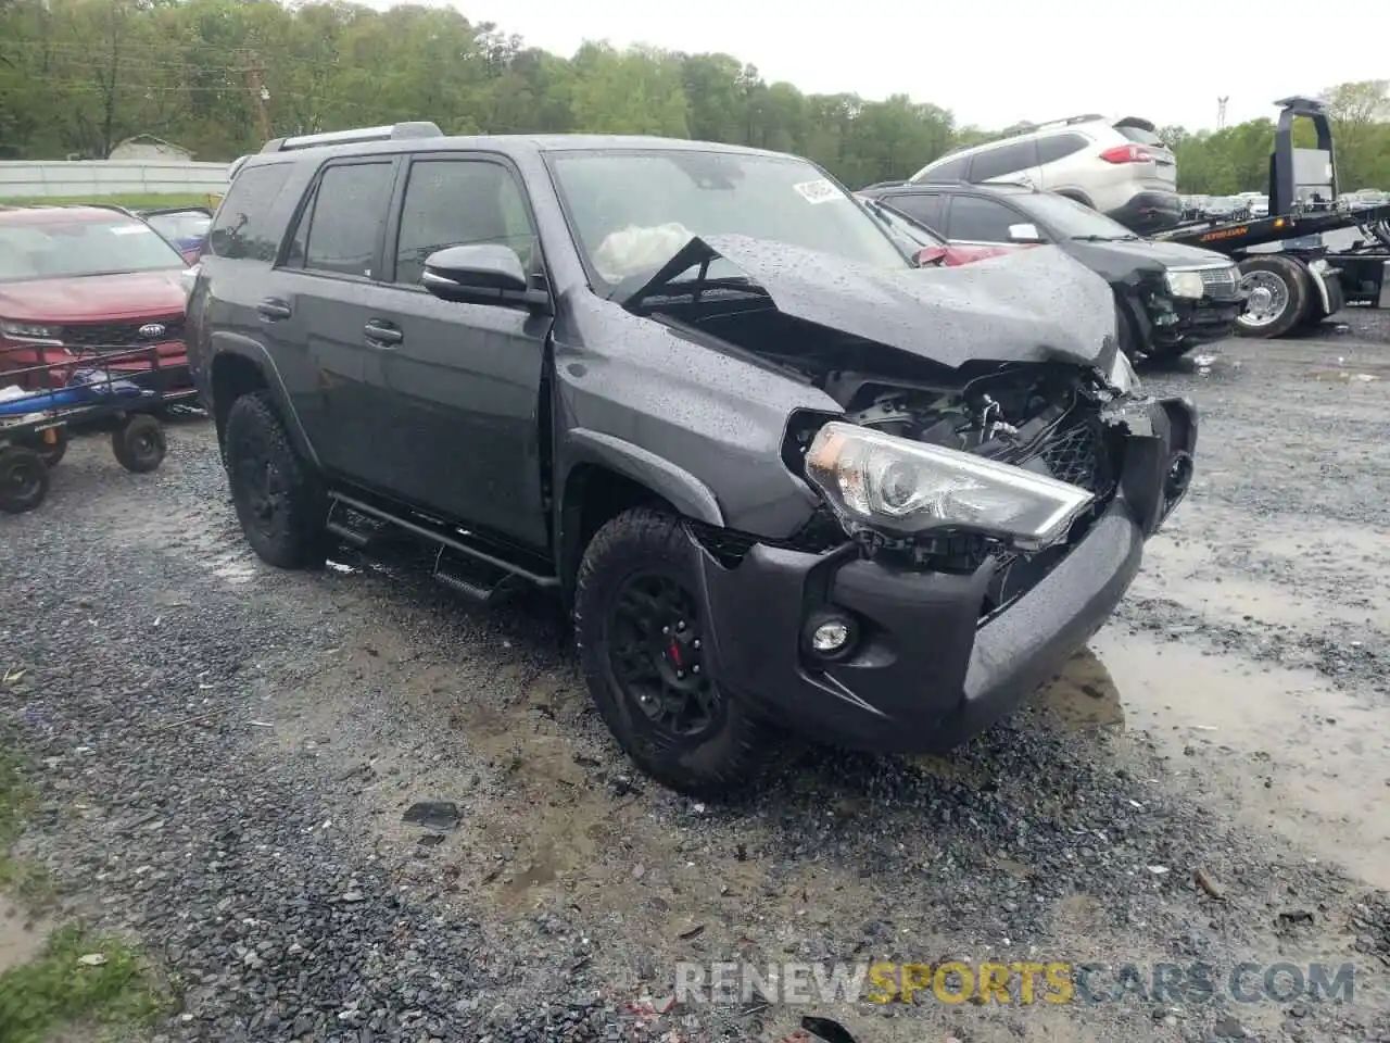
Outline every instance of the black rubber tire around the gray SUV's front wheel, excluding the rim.
{"label": "black rubber tire around the gray SUV's front wheel, excluding the rim", "polygon": [[652,508],[626,510],[599,528],[584,552],[575,581],[574,638],[589,695],[619,745],[648,776],[702,800],[731,795],[764,770],[780,750],[781,734],[738,698],[719,691],[709,727],[677,737],[651,720],[617,683],[609,620],[624,584],[641,572],[699,590],[689,538],[674,515]]}

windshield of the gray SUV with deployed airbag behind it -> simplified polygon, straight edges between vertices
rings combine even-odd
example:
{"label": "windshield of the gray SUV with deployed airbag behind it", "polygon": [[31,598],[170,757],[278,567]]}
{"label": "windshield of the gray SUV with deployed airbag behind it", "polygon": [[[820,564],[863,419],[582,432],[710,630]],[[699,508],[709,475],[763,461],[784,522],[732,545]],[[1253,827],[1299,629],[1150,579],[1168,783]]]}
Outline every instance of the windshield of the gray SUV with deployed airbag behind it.
{"label": "windshield of the gray SUV with deployed airbag behind it", "polygon": [[[746,235],[860,264],[909,261],[884,229],[805,160],[731,152],[566,152],[549,157],[591,270],[609,286],[655,274],[694,236]],[[733,264],[712,277],[737,277]]]}

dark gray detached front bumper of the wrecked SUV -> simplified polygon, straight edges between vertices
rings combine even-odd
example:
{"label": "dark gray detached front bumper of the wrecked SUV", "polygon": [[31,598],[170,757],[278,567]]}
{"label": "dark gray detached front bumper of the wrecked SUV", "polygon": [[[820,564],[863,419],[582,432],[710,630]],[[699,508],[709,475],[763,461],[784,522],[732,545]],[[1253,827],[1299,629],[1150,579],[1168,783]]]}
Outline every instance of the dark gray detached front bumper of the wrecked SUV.
{"label": "dark gray detached front bumper of the wrecked SUV", "polygon": [[[1144,541],[1186,492],[1197,441],[1188,401],[1130,402],[1108,423],[1123,456],[1104,513],[983,622],[992,559],[948,574],[878,563],[852,544],[830,553],[756,544],[728,567],[692,538],[720,686],[794,731],[876,752],[945,750],[1011,712],[1105,623]],[[859,634],[834,662],[805,641],[826,611]]]}

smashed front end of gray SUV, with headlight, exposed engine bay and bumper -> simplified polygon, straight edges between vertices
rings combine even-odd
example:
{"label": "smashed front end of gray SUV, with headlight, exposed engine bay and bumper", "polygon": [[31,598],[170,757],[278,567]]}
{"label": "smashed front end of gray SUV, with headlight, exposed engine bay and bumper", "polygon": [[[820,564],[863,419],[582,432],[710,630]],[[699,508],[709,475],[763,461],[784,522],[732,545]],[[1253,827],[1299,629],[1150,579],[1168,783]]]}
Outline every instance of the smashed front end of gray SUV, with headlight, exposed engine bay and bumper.
{"label": "smashed front end of gray SUV, with headlight, exposed engine bay and bumper", "polygon": [[949,748],[1109,617],[1187,492],[1195,409],[1140,395],[1113,350],[954,389],[824,388],[844,414],[792,417],[784,449],[823,498],[816,524],[733,552],[695,534],[717,676],[826,741]]}

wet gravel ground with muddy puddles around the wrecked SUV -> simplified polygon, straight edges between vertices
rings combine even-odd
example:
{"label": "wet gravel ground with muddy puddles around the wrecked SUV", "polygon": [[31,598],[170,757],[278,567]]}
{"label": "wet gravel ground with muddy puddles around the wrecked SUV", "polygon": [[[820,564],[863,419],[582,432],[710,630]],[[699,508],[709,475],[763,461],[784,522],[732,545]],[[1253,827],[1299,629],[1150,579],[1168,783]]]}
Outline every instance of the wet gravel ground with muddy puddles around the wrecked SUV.
{"label": "wet gravel ground with muddy puddles around the wrecked SUV", "polygon": [[[24,852],[164,968],[171,1042],[1390,1040],[1390,323],[1344,318],[1144,374],[1202,410],[1194,491],[1029,709],[948,758],[810,750],[733,807],[628,773],[545,601],[275,572],[210,426],[152,476],[79,442],[0,517]],[[881,958],[1145,980],[666,1010],[678,961]],[[1354,998],[1150,987],[1241,961],[1351,962]]]}

